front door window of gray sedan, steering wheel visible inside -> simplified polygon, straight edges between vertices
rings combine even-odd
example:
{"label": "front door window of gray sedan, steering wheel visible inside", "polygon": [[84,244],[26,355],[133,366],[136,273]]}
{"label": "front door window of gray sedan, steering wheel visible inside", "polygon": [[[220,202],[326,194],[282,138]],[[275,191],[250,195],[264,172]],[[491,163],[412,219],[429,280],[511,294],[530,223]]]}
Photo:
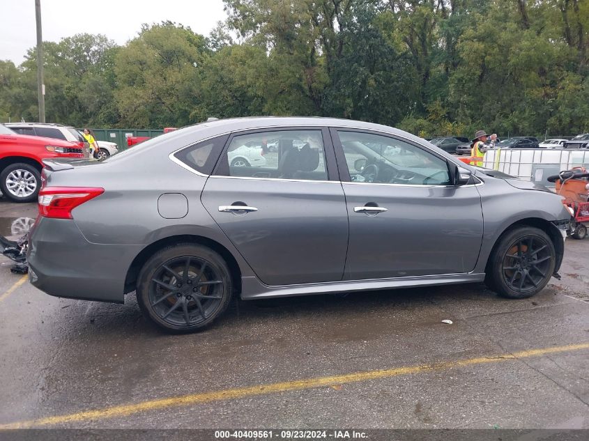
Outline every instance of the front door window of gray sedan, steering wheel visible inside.
{"label": "front door window of gray sedan, steering wheel visible inside", "polygon": [[353,182],[450,185],[447,162],[427,150],[378,134],[337,134]]}

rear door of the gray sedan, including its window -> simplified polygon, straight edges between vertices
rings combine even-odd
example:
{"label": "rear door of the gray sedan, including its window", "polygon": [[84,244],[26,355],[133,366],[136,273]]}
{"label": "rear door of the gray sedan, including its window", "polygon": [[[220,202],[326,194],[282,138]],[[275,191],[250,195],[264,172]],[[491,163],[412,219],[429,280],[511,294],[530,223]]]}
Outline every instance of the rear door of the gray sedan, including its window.
{"label": "rear door of the gray sedan, including its window", "polygon": [[[231,165],[247,145],[262,146],[265,161]],[[348,217],[327,129],[232,135],[201,201],[263,283],[342,280]]]}

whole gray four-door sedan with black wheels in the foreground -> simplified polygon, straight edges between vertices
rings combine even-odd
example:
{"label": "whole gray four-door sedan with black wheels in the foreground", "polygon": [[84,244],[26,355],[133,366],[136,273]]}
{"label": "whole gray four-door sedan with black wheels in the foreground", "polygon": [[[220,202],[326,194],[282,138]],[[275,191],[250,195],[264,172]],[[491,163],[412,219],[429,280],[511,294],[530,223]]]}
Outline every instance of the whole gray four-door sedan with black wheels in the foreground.
{"label": "whole gray four-door sedan with black wheels in the foreground", "polygon": [[[270,138],[276,164],[231,166],[232,152]],[[45,164],[31,283],[105,302],[136,291],[170,332],[210,325],[233,295],[486,281],[530,297],[558,271],[570,219],[545,187],[334,118],[231,118],[102,162]]]}

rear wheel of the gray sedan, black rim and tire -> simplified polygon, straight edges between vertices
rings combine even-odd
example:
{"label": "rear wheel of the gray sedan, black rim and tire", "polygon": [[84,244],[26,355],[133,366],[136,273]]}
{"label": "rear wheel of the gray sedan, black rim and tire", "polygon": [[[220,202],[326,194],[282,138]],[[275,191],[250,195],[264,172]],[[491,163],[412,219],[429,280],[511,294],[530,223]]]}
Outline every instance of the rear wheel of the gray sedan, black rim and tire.
{"label": "rear wheel of the gray sedan, black rim and tire", "polygon": [[162,330],[174,334],[211,325],[227,309],[231,293],[231,274],[223,258],[210,248],[190,243],[161,249],[145,263],[137,278],[141,312]]}

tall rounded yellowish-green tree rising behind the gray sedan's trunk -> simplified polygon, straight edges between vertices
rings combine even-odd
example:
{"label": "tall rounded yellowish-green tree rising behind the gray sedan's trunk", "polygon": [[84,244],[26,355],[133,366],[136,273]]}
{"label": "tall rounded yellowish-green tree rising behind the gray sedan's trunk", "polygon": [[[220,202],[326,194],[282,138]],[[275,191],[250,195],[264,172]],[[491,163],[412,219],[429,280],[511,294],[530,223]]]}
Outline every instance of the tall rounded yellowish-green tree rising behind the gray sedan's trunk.
{"label": "tall rounded yellowish-green tree rising behind the gray sedan's trunk", "polygon": [[180,127],[195,121],[206,40],[190,28],[162,22],[144,25],[116,54],[114,71],[120,125]]}

